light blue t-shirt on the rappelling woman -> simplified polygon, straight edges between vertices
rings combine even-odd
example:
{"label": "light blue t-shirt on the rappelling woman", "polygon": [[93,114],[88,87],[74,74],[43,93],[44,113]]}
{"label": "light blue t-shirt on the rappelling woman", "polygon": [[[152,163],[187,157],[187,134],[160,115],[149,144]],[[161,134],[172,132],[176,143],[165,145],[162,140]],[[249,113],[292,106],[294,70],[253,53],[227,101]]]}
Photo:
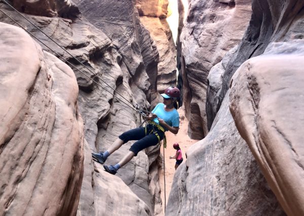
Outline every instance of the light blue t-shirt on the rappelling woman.
{"label": "light blue t-shirt on the rappelling woman", "polygon": [[[159,103],[156,107],[152,110],[153,113],[157,115],[157,117],[164,119],[166,123],[172,127],[179,127],[179,114],[176,109],[171,111],[166,111],[164,108],[165,104]],[[160,123],[157,118],[153,119],[156,123]],[[167,128],[165,128],[168,131]]]}

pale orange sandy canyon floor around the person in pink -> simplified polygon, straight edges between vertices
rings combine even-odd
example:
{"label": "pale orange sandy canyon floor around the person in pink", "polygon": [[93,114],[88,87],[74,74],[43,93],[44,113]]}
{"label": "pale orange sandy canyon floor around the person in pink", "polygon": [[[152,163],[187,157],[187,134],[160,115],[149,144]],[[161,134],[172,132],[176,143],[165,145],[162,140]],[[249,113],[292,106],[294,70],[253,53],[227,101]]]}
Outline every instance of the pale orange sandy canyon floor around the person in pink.
{"label": "pale orange sandy canyon floor around the person in pink", "polygon": [[[180,117],[180,124],[179,124],[179,131],[177,135],[174,135],[170,132],[166,132],[167,138],[167,148],[165,149],[165,179],[166,179],[166,204],[168,202],[168,197],[171,191],[171,185],[173,182],[174,172],[175,172],[175,159],[169,159],[170,156],[174,156],[176,150],[173,148],[173,144],[177,142],[182,152],[183,162],[186,161],[185,153],[187,149],[193,145],[194,143],[198,142],[198,140],[192,140],[188,137],[187,130],[188,130],[188,121],[185,118],[184,109],[183,107],[178,109],[179,117]],[[164,149],[161,149],[161,154],[164,155]],[[165,187],[164,187],[164,168],[159,170],[160,175],[160,185],[161,185],[161,197],[163,201],[163,211],[165,210]]]}

